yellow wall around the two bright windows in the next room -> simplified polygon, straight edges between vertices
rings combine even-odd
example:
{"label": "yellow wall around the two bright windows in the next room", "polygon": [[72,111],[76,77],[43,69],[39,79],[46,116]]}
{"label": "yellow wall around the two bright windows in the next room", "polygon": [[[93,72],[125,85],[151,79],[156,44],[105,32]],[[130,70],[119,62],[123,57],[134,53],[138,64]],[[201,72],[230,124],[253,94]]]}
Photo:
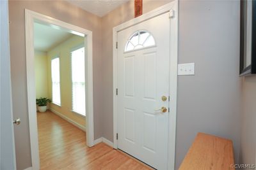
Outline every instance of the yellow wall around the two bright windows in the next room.
{"label": "yellow wall around the two bright windows in the next room", "polygon": [[[84,44],[84,38],[81,36],[72,36],[60,45],[52,48],[47,52],[48,62],[48,96],[52,96],[51,88],[51,59],[52,57],[60,57],[60,92],[61,106],[51,104],[51,109],[58,111],[65,117],[70,118],[77,124],[85,127],[85,118],[72,112],[72,92],[71,92],[71,63],[70,51],[72,48]],[[52,97],[51,97],[52,98]]]}

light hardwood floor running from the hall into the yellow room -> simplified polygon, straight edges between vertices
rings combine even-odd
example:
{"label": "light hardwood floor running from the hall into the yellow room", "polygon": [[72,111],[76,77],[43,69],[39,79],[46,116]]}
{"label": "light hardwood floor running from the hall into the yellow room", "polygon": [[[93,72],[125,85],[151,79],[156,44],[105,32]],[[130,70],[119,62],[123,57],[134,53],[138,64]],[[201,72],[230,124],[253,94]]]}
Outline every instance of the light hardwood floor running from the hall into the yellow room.
{"label": "light hardwood floor running from the hall into the yellow room", "polygon": [[85,132],[51,111],[37,122],[40,169],[150,169],[104,143],[89,148]]}

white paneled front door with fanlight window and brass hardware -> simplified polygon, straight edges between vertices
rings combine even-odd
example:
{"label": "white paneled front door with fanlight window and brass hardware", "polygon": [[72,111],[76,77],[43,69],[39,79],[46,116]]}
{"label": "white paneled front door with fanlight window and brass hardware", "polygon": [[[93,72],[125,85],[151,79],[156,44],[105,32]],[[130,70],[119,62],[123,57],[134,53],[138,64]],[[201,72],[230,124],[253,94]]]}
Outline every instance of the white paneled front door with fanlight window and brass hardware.
{"label": "white paneled front door with fanlight window and brass hardware", "polygon": [[117,39],[118,148],[167,169],[169,13],[128,27]]}

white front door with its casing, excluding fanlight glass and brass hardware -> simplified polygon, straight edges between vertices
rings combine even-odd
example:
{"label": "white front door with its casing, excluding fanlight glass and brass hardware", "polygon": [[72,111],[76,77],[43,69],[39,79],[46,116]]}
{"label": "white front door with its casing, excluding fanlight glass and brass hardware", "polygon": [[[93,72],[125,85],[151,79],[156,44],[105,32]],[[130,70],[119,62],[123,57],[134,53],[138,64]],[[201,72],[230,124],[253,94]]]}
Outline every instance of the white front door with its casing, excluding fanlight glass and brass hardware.
{"label": "white front door with its casing, excluding fanlight glass and brass hardware", "polygon": [[[177,5],[113,28],[114,147],[157,169],[175,169]],[[129,36],[140,30],[150,32],[156,46],[124,52]],[[170,113],[155,111],[168,106]]]}

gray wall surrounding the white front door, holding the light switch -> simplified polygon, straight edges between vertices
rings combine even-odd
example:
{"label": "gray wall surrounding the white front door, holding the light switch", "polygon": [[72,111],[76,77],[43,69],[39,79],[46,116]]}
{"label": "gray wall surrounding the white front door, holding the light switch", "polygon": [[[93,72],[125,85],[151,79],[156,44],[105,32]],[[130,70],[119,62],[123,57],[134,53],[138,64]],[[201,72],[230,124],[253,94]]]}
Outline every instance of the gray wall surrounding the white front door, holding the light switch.
{"label": "gray wall surrounding the white front door, holding the light switch", "polygon": [[[144,13],[169,1],[144,1]],[[118,16],[118,17],[116,17]],[[133,17],[132,4],[102,18],[104,138],[113,141],[112,27]],[[176,169],[197,132],[234,141],[239,151],[239,1],[179,1],[179,63],[195,62],[195,76],[179,76]]]}

